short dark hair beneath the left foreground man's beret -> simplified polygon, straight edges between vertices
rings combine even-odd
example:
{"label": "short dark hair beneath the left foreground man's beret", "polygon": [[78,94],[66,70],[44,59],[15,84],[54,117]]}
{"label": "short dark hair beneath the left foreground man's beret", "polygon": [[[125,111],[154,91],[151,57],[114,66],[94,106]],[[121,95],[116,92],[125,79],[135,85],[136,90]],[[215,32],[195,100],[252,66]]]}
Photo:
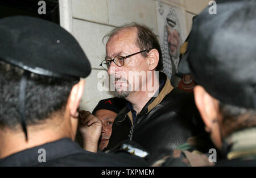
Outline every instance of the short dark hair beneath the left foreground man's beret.
{"label": "short dark hair beneath the left foreground man's beret", "polygon": [[[0,61],[0,129],[17,129],[20,79],[24,70]],[[67,105],[72,86],[78,80],[41,76],[31,73],[27,80],[24,119],[27,125],[42,123]]]}

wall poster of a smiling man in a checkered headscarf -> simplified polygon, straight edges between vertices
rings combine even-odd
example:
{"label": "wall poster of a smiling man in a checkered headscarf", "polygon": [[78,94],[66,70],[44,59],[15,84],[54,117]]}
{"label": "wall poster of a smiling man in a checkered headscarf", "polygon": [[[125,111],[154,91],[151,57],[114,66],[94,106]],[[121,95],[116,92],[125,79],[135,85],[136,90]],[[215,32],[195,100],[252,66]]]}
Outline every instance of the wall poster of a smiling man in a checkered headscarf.
{"label": "wall poster of a smiling man in a checkered headscarf", "polygon": [[183,7],[156,2],[156,13],[164,72],[170,78],[172,86],[176,87],[181,79],[176,75],[180,47],[187,38],[185,10]]}

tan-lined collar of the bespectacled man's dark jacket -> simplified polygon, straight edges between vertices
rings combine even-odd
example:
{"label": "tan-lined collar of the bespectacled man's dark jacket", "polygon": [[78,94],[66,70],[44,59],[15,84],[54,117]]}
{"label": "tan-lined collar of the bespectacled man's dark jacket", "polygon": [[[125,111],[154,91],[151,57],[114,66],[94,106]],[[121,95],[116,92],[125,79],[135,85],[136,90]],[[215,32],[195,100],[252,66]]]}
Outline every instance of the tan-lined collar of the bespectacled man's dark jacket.
{"label": "tan-lined collar of the bespectacled man's dark jacket", "polygon": [[[170,79],[167,77],[166,73],[159,72],[159,81],[163,81],[163,86],[158,89],[158,96],[150,98],[147,104],[142,108],[139,114],[148,114],[155,106],[159,105],[162,102],[163,98],[166,97],[168,93],[174,89],[171,85]],[[127,106],[118,114],[117,122],[122,122],[126,117],[129,117],[131,123],[133,123],[133,114]]]}

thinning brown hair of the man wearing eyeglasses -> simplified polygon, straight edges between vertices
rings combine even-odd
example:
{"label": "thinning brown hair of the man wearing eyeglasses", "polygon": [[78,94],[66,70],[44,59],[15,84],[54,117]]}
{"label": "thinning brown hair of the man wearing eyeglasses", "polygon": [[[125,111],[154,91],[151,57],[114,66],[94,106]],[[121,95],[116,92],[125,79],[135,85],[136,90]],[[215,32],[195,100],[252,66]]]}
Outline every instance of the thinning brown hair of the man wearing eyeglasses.
{"label": "thinning brown hair of the man wearing eyeglasses", "polygon": [[[158,42],[158,38],[156,38],[156,35],[154,32],[150,30],[147,26],[143,24],[138,23],[129,23],[125,24],[121,27],[116,27],[112,31],[109,32],[109,34],[105,35],[103,40],[108,37],[111,39],[115,34],[117,34],[118,31],[124,29],[124,28],[137,28],[137,39],[135,40],[135,44],[142,50],[150,51],[151,49],[158,50],[159,53],[159,61],[158,65],[155,68],[156,71],[162,71],[163,70],[163,56],[162,51],[160,48],[160,44]],[[142,52],[143,57],[147,57],[147,52]]]}

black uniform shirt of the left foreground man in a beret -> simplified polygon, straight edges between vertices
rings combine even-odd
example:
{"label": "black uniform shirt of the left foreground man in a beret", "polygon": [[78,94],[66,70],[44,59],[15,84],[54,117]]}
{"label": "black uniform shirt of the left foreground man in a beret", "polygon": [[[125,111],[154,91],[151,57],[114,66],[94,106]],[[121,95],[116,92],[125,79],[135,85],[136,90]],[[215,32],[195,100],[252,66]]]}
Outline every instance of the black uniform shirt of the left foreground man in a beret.
{"label": "black uniform shirt of the left foreground man in a beret", "polygon": [[[42,150],[46,162],[42,162]],[[40,160],[40,162],[39,162]],[[125,153],[104,154],[83,150],[71,139],[63,138],[0,159],[0,166],[147,166],[142,158]]]}

